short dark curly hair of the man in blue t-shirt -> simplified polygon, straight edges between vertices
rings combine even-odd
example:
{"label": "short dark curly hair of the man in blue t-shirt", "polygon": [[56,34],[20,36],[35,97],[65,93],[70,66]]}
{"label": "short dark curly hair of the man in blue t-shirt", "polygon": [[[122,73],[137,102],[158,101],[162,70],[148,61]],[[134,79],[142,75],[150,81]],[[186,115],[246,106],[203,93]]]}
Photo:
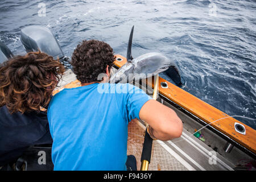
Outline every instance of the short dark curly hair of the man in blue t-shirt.
{"label": "short dark curly hair of the man in blue t-shirt", "polygon": [[98,82],[98,75],[113,66],[115,56],[109,44],[99,40],[84,40],[72,55],[72,67],[82,83]]}

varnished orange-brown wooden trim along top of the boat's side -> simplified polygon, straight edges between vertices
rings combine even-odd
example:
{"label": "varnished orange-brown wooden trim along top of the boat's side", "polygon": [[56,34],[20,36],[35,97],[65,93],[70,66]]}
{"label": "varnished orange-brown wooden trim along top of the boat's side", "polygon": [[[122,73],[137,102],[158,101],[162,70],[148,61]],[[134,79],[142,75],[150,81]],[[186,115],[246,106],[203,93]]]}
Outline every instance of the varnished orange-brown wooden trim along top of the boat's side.
{"label": "varnished orange-brown wooden trim along top of the boat's side", "polygon": [[[114,64],[117,67],[121,67],[123,64],[127,62],[127,60],[125,57],[121,55],[116,55],[116,59],[118,57],[122,60],[116,60]],[[168,88],[162,88],[160,86],[161,82],[166,82],[168,84]],[[154,88],[154,82],[152,83],[147,81],[147,84],[148,86],[151,86],[151,88]],[[168,98],[168,100],[171,100],[175,104],[179,105],[180,107],[183,107],[185,110],[189,111],[189,113],[192,113],[193,115],[202,119],[206,123],[216,121],[217,119],[229,117],[228,114],[218,110],[216,107],[207,104],[206,102],[200,100],[199,98],[193,96],[192,94],[186,92],[185,90],[179,88],[171,82],[164,80],[161,77],[159,77],[158,87],[160,94]],[[234,123],[236,122],[245,126],[245,135],[236,132],[236,130],[234,129]],[[256,153],[256,131],[253,128],[245,125],[244,123],[232,117],[216,121],[212,123],[210,126],[214,127],[214,129],[220,131],[222,134],[241,144],[243,147],[246,147],[254,154]]]}

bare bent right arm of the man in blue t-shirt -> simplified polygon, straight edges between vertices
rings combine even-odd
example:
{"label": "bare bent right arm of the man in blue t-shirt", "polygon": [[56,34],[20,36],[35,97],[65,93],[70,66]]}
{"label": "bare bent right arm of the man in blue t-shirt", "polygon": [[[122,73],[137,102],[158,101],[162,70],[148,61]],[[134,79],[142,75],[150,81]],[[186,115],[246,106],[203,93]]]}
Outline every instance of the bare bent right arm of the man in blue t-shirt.
{"label": "bare bent right arm of the man in blue t-shirt", "polygon": [[174,110],[158,101],[147,101],[139,111],[139,117],[151,126],[151,134],[160,140],[179,138],[183,123]]}

